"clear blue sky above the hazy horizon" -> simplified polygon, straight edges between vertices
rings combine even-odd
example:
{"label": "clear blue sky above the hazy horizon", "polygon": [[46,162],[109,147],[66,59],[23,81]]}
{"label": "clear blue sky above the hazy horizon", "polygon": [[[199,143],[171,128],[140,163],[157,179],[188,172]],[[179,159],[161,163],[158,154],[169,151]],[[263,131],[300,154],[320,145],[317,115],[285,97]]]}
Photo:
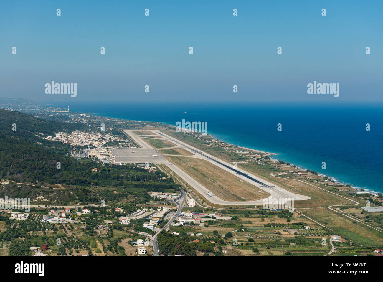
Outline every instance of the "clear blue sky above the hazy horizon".
{"label": "clear blue sky above the hazy horizon", "polygon": [[[382,1],[205,2],[3,1],[0,97],[383,100]],[[51,80],[77,83],[77,97],[46,94]],[[314,80],[339,97],[308,94]]]}

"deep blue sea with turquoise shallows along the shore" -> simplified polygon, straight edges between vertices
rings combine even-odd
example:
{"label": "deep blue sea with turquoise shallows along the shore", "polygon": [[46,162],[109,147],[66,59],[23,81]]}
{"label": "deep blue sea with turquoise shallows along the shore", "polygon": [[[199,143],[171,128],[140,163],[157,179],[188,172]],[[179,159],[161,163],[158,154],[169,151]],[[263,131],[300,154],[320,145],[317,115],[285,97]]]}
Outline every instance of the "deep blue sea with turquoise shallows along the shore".
{"label": "deep blue sea with turquoise shallows along the shore", "polygon": [[[353,187],[383,192],[383,104],[296,102],[54,102],[70,111],[175,125],[207,121],[208,134]],[[282,131],[277,124],[282,124]],[[370,124],[370,131],[366,124]],[[326,162],[326,169],[322,169]]]}

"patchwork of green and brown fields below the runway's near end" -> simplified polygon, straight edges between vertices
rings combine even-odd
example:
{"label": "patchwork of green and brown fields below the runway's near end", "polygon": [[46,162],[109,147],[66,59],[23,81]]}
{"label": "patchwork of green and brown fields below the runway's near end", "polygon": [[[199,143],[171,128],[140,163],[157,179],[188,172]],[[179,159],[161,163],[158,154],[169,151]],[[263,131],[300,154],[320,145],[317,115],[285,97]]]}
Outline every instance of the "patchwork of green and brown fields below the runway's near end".
{"label": "patchwork of green and brown fields below the runway's near end", "polygon": [[[232,218],[221,220],[217,216],[216,221],[207,218],[203,227],[171,226],[170,230],[179,232],[180,236],[193,233],[194,236],[190,236],[192,240],[214,243],[214,251],[210,255],[216,256],[324,256],[331,250],[330,237],[337,234],[288,210],[226,209],[216,212]],[[310,226],[310,229],[304,226]],[[195,236],[197,233],[201,235]],[[373,254],[374,248],[378,246],[373,244],[362,247],[345,239],[343,243],[336,243],[337,250],[331,255]]]}

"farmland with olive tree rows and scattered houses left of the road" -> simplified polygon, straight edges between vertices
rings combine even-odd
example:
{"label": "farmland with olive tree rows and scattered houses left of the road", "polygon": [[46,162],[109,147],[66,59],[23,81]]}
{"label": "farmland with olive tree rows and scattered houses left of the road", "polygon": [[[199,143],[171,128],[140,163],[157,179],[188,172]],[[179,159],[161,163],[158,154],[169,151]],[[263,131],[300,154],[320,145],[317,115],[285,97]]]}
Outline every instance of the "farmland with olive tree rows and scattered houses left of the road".
{"label": "farmland with olive tree rows and scattered houses left of the road", "polygon": [[[26,220],[10,220],[7,217],[9,214],[3,213],[0,227],[5,225],[7,229],[0,232],[0,255],[33,255],[31,247],[41,248],[42,244],[47,244],[47,250],[41,250],[41,253],[48,256],[134,256],[137,255],[137,247],[129,242],[145,239],[138,234],[140,231],[153,232],[140,227],[142,220],[134,226],[105,226],[106,213],[96,210],[93,210],[93,215],[77,217],[76,222],[42,223],[42,214],[46,212],[31,212]],[[113,221],[118,222],[116,219]],[[152,247],[146,246],[146,249],[146,255],[151,255]]]}

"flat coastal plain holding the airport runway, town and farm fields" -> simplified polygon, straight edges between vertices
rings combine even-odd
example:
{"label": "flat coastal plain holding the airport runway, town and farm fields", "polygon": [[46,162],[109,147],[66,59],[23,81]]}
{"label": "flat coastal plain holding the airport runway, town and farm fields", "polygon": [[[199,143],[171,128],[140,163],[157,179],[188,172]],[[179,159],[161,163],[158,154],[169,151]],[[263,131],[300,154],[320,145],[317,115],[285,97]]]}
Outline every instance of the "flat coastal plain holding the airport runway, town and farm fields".
{"label": "flat coastal plain holding the airport runway, town and farm fields", "polygon": [[[382,232],[381,193],[357,189],[319,172],[280,161],[272,152],[242,148],[199,132],[177,133],[172,125],[60,110],[28,108],[34,117],[50,116],[52,122],[77,121],[87,128],[35,136],[67,146],[66,156],[75,161],[97,162],[86,172],[93,180],[81,192],[83,188],[78,188],[81,185],[2,178],[3,190],[13,186],[20,190],[35,187],[39,193],[31,199],[28,212],[10,210],[11,205],[2,210],[5,219],[0,221],[3,222],[2,252],[34,256],[383,253],[378,243],[361,248],[358,243],[361,238],[350,237],[334,225],[340,215],[344,221],[355,222],[358,230]],[[177,141],[180,138],[182,142]],[[196,154],[199,150],[203,151],[200,158]],[[219,157],[218,164],[213,165],[218,158],[210,159],[210,154]],[[187,167],[193,167],[193,173]],[[123,176],[119,181],[130,182],[119,187],[118,182],[105,185],[96,181],[98,175],[107,176],[110,169],[117,169],[117,174]],[[233,171],[243,170],[246,177],[232,176]],[[262,173],[258,174],[259,171]],[[222,182],[221,178],[213,181],[214,175],[225,175],[226,181]],[[152,185],[150,179],[167,188],[143,192],[135,188],[144,183]],[[255,183],[257,191],[254,186],[248,186],[255,181],[261,183]],[[285,197],[297,199],[293,207],[282,202],[265,205],[267,197],[274,197],[268,189],[272,185],[281,187]],[[208,189],[204,190],[205,187]],[[129,189],[136,190],[127,193]],[[228,189],[231,189],[229,193]],[[67,193],[72,196],[63,197]],[[95,200],[90,200],[92,197]],[[254,197],[259,200],[253,200]],[[1,203],[6,204],[4,200]],[[329,221],[323,222],[321,216],[330,216]],[[7,227],[7,222],[17,225]],[[6,236],[14,233],[15,228],[31,225],[38,228],[35,231],[27,228],[19,236],[28,239],[38,234],[39,239],[33,245],[24,245],[17,239],[7,241]],[[188,247],[174,248],[181,238],[188,242]],[[308,247],[298,251],[300,246]]]}

